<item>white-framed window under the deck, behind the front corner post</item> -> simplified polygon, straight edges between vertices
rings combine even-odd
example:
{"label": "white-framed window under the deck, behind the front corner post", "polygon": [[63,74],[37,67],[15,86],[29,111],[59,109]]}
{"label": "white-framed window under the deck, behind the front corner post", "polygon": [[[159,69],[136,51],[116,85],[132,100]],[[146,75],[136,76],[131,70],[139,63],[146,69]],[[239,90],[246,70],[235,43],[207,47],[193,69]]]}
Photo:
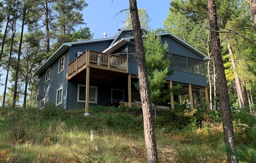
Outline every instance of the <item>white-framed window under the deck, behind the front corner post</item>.
{"label": "white-framed window under the deck, behind the front corner post", "polygon": [[[78,84],[77,102],[85,103],[85,88],[86,88],[86,85]],[[89,86],[89,103],[98,104],[98,87],[97,86]]]}

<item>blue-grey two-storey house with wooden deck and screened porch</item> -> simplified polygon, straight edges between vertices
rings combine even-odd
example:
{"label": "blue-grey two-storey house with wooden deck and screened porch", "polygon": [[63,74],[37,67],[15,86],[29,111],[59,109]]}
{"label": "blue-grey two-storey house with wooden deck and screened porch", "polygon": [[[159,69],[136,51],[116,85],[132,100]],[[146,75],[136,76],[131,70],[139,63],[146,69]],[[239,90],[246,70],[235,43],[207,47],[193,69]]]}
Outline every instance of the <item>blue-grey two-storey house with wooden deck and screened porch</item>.
{"label": "blue-grey two-storey house with wooden deck and screened porch", "polygon": [[[148,32],[142,28],[142,32]],[[205,62],[208,56],[174,36],[161,33],[162,42],[168,43],[173,74],[167,84],[182,83],[181,94],[190,95],[205,89]],[[89,105],[107,105],[116,101],[140,101],[133,82],[137,82],[137,62],[134,55],[133,30],[119,30],[115,36],[103,39],[67,42],[62,44],[34,73],[39,77],[37,106],[54,103],[65,109],[86,108]],[[171,95],[173,104],[173,95]],[[172,108],[174,106],[172,105]]]}

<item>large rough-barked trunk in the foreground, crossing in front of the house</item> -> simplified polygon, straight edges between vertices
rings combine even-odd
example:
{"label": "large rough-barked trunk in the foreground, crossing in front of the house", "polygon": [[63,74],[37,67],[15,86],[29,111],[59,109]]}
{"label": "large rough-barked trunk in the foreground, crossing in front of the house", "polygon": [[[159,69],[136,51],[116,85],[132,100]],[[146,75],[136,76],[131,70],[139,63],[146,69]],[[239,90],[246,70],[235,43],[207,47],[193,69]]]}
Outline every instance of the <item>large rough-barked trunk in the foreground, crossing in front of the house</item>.
{"label": "large rough-barked trunk in the foreground, crossing in front of the house", "polygon": [[155,128],[152,104],[150,102],[149,83],[146,71],[145,53],[142,41],[142,31],[137,9],[137,1],[129,0],[131,21],[134,30],[135,53],[137,56],[138,76],[140,83],[140,98],[143,110],[144,136],[146,145],[147,163],[158,163],[158,155],[155,141]]}

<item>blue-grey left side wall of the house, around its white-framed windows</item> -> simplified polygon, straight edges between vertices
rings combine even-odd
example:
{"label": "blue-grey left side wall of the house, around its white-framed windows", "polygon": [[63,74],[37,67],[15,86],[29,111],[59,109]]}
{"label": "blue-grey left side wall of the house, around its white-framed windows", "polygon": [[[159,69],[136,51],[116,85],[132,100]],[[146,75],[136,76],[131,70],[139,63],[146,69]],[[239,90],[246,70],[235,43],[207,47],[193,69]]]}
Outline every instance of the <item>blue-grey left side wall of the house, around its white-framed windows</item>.
{"label": "blue-grey left side wall of the house, around its white-framed windows", "polygon": [[68,73],[68,51],[65,52],[64,71],[58,74],[59,59],[51,65],[50,80],[45,83],[45,72],[39,76],[37,106],[40,107],[40,101],[45,98],[45,104],[56,104],[57,89],[63,87],[62,104],[66,108],[67,99],[67,73]]}

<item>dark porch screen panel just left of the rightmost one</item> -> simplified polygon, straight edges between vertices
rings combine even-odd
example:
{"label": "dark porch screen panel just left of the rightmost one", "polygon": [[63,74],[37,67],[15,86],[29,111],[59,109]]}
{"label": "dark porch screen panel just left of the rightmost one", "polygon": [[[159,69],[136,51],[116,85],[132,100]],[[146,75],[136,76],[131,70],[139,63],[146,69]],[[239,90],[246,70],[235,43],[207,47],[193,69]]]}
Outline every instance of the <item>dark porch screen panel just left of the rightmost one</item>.
{"label": "dark porch screen panel just left of the rightmost one", "polygon": [[177,54],[171,54],[170,56],[171,69],[188,72],[187,58],[185,56],[179,56]]}

